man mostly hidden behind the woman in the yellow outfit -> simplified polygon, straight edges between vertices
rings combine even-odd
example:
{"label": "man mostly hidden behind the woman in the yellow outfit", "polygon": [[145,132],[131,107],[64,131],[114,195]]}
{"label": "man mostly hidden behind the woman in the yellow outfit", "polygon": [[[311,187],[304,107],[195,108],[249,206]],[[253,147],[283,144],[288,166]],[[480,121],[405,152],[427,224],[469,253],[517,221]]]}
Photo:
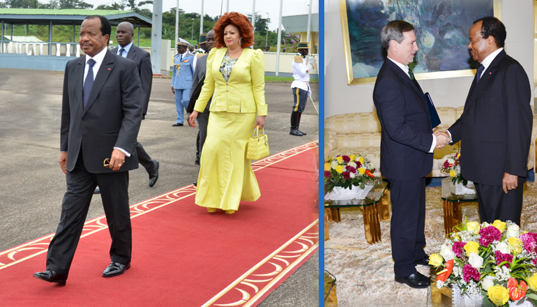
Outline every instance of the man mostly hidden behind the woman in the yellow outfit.
{"label": "man mostly hidden behind the woman in the yellow outfit", "polygon": [[[200,40],[202,37],[200,37]],[[194,105],[203,87],[205,80],[205,70],[207,68],[207,56],[209,51],[213,49],[215,42],[215,35],[213,29],[203,36],[204,42],[199,43],[199,47],[204,50],[205,54],[201,54],[201,57],[197,59],[196,68],[194,70],[194,77],[192,78],[192,89],[190,90],[190,100],[186,112],[188,114],[194,111]],[[199,55],[199,54],[197,54]],[[198,132],[196,138],[196,165],[199,165],[199,158],[202,156],[203,144],[207,137],[207,124],[209,123],[209,107],[211,107],[211,99],[207,103],[204,112],[199,113],[197,116]],[[190,125],[190,123],[188,123]],[[197,181],[194,182],[197,185]]]}

